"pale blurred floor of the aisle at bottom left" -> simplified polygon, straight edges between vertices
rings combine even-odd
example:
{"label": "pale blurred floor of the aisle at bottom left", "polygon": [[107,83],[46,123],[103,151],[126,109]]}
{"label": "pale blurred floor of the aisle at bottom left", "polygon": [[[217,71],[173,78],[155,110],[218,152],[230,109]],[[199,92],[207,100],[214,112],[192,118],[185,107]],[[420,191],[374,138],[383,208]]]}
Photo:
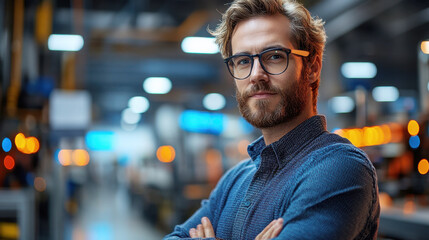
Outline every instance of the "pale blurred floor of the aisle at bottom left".
{"label": "pale blurred floor of the aisle at bottom left", "polygon": [[158,240],[164,233],[132,209],[125,188],[86,187],[66,240]]}

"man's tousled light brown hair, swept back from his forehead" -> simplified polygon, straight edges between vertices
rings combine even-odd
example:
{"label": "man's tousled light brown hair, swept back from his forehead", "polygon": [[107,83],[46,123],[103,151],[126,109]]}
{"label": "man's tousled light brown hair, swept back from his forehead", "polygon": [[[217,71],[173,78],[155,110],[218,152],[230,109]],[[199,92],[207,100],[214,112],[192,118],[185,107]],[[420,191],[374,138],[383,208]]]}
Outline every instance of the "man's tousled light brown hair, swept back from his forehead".
{"label": "man's tousled light brown hair, swept back from his forehead", "polygon": [[[306,77],[309,66],[319,57],[322,61],[326,34],[324,22],[312,17],[308,10],[295,0],[235,0],[222,15],[222,21],[210,33],[216,37],[222,57],[232,55],[231,38],[235,27],[241,21],[257,16],[282,14],[290,21],[291,42],[295,48],[310,52],[303,58],[303,77]],[[321,63],[320,63],[321,64]],[[313,108],[316,111],[317,94],[320,77],[311,85],[313,91]]]}

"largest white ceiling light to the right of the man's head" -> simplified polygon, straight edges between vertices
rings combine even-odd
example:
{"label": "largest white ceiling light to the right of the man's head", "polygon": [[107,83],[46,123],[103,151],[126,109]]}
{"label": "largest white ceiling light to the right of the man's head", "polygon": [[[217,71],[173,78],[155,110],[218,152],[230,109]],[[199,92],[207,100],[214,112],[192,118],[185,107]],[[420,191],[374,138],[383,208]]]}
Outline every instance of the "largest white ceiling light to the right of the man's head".
{"label": "largest white ceiling light to the right of the man's head", "polygon": [[377,67],[371,62],[347,62],[341,66],[341,73],[346,78],[374,78]]}

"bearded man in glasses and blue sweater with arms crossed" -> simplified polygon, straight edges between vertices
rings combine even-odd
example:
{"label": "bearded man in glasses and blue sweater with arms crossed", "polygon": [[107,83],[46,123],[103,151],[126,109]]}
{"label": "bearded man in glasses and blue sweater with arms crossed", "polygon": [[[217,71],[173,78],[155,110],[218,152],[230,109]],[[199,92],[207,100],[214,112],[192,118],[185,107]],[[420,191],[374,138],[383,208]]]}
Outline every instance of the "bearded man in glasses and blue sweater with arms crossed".
{"label": "bearded man in glasses and blue sweater with arms crossed", "polygon": [[292,0],[236,0],[212,34],[263,136],[165,239],[375,239],[375,170],[316,113],[323,22]]}

